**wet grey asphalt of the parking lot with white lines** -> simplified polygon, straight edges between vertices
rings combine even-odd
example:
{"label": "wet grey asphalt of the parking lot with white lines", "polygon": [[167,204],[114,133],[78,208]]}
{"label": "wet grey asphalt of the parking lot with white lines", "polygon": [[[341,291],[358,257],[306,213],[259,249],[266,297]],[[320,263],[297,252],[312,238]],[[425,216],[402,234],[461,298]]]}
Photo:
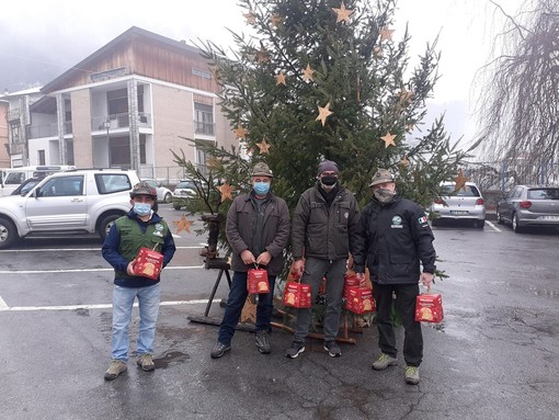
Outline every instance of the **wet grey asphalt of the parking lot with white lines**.
{"label": "wet grey asphalt of the parking lot with white lines", "polygon": [[[162,206],[170,220],[180,213]],[[202,268],[203,237],[181,234],[163,271],[156,371],[105,382],[111,348],[111,272],[95,238],[26,240],[0,251],[1,419],[557,419],[559,232],[437,227],[438,268],[449,277],[442,325],[423,326],[421,384],[398,365],[372,371],[376,328],[350,332],[330,357],[320,340],[285,357],[292,334],[275,329],[272,354],[238,331],[219,360],[204,314],[217,276]],[[192,247],[192,248],[190,248]],[[84,271],[82,271],[84,270]],[[216,298],[227,296],[221,282]],[[209,316],[219,320],[216,302]],[[277,319],[280,321],[280,319]],[[135,349],[137,310],[132,326]],[[398,330],[401,350],[402,330]]]}

